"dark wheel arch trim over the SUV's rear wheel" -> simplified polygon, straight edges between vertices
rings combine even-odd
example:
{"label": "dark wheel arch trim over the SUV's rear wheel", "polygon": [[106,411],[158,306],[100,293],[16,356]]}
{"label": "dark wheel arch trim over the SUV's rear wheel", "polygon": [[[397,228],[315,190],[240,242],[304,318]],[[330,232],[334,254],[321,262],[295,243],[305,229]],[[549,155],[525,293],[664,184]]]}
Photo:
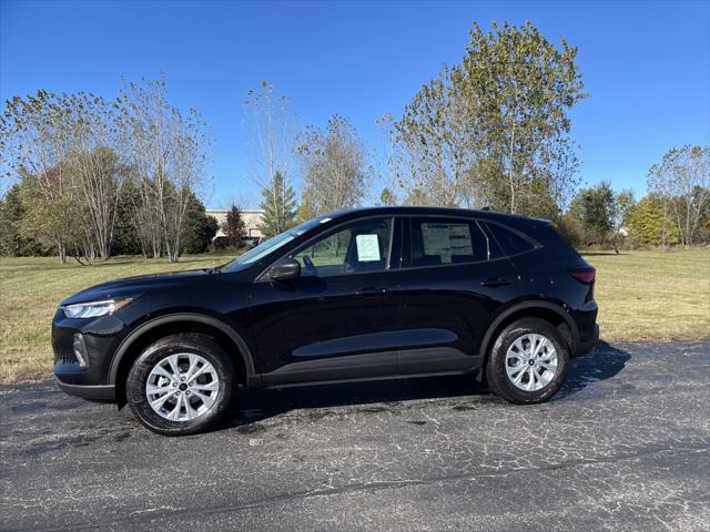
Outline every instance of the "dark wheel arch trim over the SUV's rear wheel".
{"label": "dark wheel arch trim over the SUV's rear wheel", "polygon": [[540,318],[557,327],[567,342],[570,356],[579,344],[579,330],[575,320],[560,305],[549,301],[523,301],[507,308],[493,320],[480,344],[480,357],[486,364],[490,346],[500,331],[514,321],[523,318]]}

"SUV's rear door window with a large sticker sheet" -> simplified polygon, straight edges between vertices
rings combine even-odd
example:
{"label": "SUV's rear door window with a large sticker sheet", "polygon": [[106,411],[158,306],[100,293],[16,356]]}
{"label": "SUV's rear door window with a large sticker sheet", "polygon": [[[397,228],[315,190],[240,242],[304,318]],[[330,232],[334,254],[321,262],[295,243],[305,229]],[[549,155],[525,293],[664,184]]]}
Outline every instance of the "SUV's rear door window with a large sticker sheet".
{"label": "SUV's rear door window with a large sticker sheet", "polygon": [[488,260],[488,241],[474,221],[412,218],[412,266]]}

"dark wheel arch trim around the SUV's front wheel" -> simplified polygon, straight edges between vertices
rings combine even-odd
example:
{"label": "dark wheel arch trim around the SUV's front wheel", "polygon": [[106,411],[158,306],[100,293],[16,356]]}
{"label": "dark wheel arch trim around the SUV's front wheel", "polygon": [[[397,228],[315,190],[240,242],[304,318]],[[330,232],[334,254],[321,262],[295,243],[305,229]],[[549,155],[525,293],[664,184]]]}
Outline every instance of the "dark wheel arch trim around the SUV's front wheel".
{"label": "dark wheel arch trim around the SUV's front wheel", "polygon": [[248,386],[254,379],[251,350],[230,325],[201,314],[180,313],[152,319],[133,330],[119,346],[109,368],[109,383],[115,386],[119,408],[125,405],[125,378],[133,361],[152,342],[172,334],[201,332],[213,337],[232,358],[235,380]]}

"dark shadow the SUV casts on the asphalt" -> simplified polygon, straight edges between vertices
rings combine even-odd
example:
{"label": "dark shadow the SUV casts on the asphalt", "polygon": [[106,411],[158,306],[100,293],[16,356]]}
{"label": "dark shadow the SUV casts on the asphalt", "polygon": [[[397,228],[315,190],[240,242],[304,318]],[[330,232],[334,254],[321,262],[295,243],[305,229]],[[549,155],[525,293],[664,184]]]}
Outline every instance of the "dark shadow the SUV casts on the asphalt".
{"label": "dark shadow the SUV casts on the asphalt", "polygon": [[[589,355],[570,362],[567,381],[556,396],[556,400],[572,396],[599,380],[615,377],[630,355],[601,341]],[[500,402],[474,375],[452,377],[424,377],[412,379],[375,380],[337,385],[304,386],[263,390],[240,389],[235,393],[235,405],[213,430],[237,428],[250,433],[252,423],[292,410],[310,410],[314,419],[318,409],[335,407],[358,407],[358,412],[376,413],[405,407],[403,401],[422,399],[444,399],[452,397],[480,396],[483,402]],[[462,408],[468,409],[468,408]],[[254,429],[257,430],[257,429]]]}

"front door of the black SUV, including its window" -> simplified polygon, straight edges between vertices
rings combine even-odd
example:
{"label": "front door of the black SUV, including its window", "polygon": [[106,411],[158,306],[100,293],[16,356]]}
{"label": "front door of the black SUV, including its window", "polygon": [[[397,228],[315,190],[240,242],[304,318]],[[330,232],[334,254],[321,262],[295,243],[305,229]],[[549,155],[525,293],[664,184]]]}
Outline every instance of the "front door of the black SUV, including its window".
{"label": "front door of the black SUV, including its window", "polygon": [[290,254],[301,276],[252,287],[256,370],[271,386],[396,371],[400,228],[393,217],[346,223]]}

